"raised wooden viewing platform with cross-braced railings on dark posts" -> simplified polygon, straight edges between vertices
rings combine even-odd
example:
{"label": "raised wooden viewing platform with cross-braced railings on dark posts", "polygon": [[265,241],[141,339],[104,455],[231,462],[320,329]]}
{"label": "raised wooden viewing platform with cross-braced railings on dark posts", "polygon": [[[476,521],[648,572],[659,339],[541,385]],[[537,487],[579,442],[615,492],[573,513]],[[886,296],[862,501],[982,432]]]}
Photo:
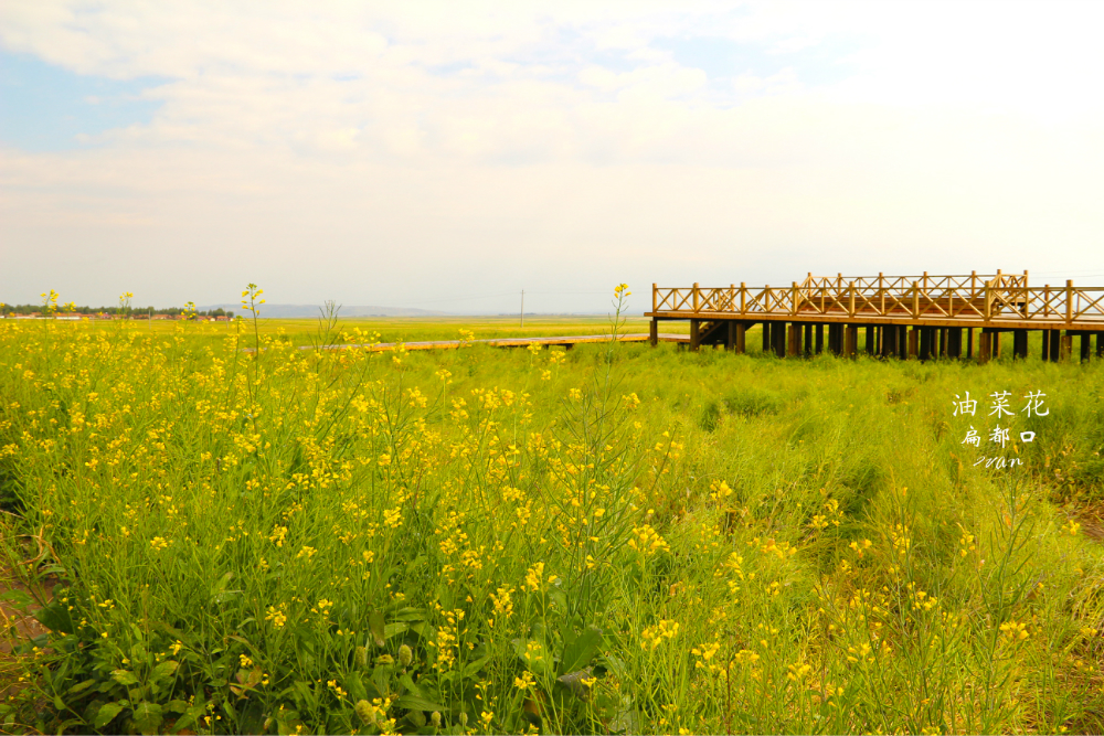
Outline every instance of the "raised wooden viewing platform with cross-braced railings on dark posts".
{"label": "raised wooden viewing platform with cross-braced railings on dark posts", "polygon": [[[744,352],[749,328],[763,327],[763,351],[782,356],[829,352],[854,355],[976,358],[1000,355],[1012,333],[1017,358],[1028,356],[1028,333],[1042,332],[1042,359],[1064,360],[1081,339],[1080,356],[1104,358],[1104,287],[1028,286],[1023,274],[968,276],[814,276],[788,287],[664,288],[651,285],[651,342],[659,322],[690,320],[690,350],[724,345]],[[827,340],[825,332],[827,328]],[[974,331],[978,330],[977,344]],[[964,344],[965,343],[965,344]]]}

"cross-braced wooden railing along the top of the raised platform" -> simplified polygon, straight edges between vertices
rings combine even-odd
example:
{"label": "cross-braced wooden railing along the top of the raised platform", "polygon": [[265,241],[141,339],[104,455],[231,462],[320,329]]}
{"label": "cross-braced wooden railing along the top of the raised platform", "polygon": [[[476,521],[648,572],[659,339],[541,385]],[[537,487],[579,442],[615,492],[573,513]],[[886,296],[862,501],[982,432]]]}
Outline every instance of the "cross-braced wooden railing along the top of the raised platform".
{"label": "cross-braced wooden railing along the top of the raised platform", "polygon": [[651,311],[672,317],[744,314],[904,318],[913,320],[1104,322],[1104,288],[1030,287],[1028,273],[979,276],[813,276],[789,287],[661,288],[652,285]]}

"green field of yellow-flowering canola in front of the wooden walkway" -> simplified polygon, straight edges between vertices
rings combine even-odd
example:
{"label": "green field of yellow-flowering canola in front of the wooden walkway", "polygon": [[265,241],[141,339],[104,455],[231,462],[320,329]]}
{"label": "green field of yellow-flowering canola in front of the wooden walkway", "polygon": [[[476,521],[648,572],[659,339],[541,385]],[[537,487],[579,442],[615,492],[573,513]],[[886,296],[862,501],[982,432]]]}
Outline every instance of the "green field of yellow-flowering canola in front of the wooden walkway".
{"label": "green field of yellow-flowering canola in front of the wooden walkway", "polygon": [[1104,729],[1098,362],[300,343],[0,322],[0,730]]}

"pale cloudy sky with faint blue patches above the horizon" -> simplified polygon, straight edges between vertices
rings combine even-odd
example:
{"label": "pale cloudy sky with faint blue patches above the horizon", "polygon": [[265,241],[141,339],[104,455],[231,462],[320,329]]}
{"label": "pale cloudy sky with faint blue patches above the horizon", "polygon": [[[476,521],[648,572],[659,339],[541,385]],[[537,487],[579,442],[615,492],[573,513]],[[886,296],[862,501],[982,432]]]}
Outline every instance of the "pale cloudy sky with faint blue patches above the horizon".
{"label": "pale cloudy sky with faint blue patches above the horizon", "polygon": [[0,301],[1104,284],[1101,2],[0,3]]}

